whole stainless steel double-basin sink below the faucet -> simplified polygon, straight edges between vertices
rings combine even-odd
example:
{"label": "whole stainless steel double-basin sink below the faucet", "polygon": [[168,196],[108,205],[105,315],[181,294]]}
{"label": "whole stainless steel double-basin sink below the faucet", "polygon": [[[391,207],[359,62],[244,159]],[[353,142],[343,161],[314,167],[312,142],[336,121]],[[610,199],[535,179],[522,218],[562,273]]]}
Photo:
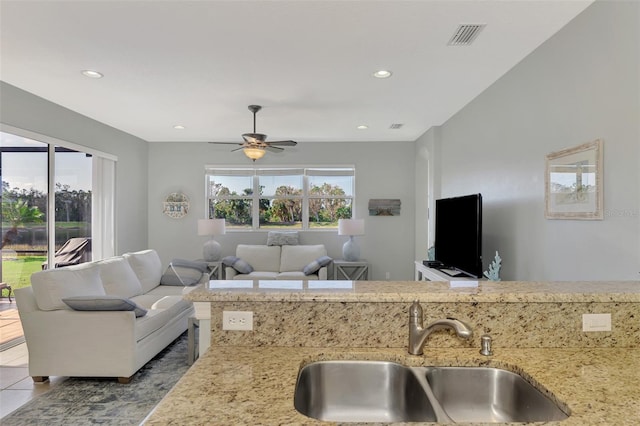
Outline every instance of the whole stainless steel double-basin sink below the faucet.
{"label": "whole stainless steel double-basin sink below the faucet", "polygon": [[386,361],[308,364],[298,373],[294,407],[334,422],[541,422],[568,417],[510,371]]}

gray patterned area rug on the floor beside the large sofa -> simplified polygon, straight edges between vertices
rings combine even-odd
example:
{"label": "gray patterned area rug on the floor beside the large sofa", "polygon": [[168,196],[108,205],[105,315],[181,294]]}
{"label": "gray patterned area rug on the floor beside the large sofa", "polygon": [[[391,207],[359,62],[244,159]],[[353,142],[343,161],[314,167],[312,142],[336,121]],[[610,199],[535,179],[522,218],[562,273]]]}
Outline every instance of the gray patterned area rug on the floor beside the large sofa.
{"label": "gray patterned area rug on the floor beside the large sofa", "polygon": [[2,418],[0,424],[139,425],[188,368],[185,332],[127,385],[113,378],[69,378]]}

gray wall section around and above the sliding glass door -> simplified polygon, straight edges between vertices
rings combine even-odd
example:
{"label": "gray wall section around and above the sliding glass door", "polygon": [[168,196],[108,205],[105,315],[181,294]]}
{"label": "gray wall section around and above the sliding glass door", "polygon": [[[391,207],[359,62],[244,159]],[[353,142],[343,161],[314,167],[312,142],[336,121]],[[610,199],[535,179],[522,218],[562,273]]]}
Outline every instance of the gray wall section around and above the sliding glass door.
{"label": "gray wall section around and above the sliding glass door", "polygon": [[116,251],[147,248],[147,142],[1,81],[0,121],[117,156]]}

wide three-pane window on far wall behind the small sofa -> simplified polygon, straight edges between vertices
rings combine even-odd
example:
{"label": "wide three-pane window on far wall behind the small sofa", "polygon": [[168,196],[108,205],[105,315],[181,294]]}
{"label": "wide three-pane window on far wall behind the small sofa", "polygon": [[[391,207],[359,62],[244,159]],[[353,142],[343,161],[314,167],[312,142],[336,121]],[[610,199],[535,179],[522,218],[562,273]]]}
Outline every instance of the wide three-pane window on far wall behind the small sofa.
{"label": "wide three-pane window on far wall behind the small sofa", "polygon": [[229,229],[335,229],[351,218],[353,167],[206,169],[209,218]]}

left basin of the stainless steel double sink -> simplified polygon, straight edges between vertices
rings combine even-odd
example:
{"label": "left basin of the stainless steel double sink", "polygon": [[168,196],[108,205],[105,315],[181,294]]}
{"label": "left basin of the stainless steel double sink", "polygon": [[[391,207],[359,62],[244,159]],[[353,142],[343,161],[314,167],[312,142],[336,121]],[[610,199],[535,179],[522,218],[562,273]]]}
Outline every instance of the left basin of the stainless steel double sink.
{"label": "left basin of the stainless steel double sink", "polygon": [[300,413],[334,422],[435,422],[420,379],[384,361],[322,361],[298,374],[294,402]]}

